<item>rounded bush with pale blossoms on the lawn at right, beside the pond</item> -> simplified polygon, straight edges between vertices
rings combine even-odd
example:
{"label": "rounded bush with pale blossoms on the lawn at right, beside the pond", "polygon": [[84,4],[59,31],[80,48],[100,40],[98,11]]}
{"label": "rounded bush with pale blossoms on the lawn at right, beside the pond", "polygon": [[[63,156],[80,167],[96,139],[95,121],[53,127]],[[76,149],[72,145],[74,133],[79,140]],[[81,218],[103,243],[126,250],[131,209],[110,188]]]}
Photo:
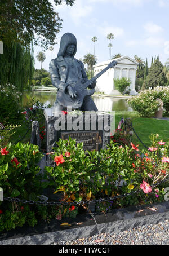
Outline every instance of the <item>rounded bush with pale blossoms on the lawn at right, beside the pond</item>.
{"label": "rounded bush with pale blossoms on the lawn at right, beside the pond", "polygon": [[163,101],[163,113],[169,114],[169,86],[156,87],[154,90],[144,90],[140,94],[128,100],[128,104],[139,112],[141,117],[153,117],[161,105],[156,101],[159,98]]}

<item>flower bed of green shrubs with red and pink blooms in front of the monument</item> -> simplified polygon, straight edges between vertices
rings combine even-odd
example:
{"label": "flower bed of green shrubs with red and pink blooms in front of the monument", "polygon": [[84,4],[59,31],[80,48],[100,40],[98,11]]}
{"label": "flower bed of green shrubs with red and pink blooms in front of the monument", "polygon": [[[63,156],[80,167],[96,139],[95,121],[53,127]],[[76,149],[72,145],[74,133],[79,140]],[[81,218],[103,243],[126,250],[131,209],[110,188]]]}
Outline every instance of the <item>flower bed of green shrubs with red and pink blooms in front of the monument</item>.
{"label": "flower bed of green shrubs with red and pink blooms in front of the monument", "polygon": [[[139,152],[132,143],[130,147],[114,143],[112,138],[107,149],[88,152],[87,156],[82,144],[75,145],[75,140],[69,138],[60,140],[55,151],[50,152],[55,167],[46,167],[42,174],[37,165],[42,153],[36,145],[7,144],[0,154],[4,197],[35,202],[44,189],[50,188],[54,195],[61,193],[62,199],[58,205],[48,206],[3,201],[0,230],[25,223],[34,226],[42,219],[49,222],[52,218],[75,218],[79,211],[88,209],[92,200],[96,200],[96,212],[105,214],[115,208],[162,202],[167,183],[157,184],[168,176],[167,156],[168,142],[159,141],[158,135],[152,135],[152,145],[146,152]],[[128,193],[131,195],[123,197]]]}

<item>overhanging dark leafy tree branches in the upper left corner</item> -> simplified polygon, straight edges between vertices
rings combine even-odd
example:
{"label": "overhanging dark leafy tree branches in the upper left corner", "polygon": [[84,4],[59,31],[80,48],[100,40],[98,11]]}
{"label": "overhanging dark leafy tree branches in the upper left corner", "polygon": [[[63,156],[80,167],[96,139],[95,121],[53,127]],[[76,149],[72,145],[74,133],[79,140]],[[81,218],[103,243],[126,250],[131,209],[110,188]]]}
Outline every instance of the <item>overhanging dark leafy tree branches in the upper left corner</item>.
{"label": "overhanging dark leafy tree branches in the upper left corner", "polygon": [[[60,5],[62,0],[54,0]],[[74,0],[65,0],[72,6]],[[47,48],[54,45],[62,21],[54,11],[50,0],[1,0],[0,40],[3,43],[19,42],[28,46],[32,39],[35,44]]]}

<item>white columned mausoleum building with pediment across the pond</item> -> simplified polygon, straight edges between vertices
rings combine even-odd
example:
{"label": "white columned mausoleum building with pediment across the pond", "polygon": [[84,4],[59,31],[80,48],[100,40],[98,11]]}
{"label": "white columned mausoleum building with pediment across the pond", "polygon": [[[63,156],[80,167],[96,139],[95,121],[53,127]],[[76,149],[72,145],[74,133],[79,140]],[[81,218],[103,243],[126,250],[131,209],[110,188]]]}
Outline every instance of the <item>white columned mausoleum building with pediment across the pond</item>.
{"label": "white columned mausoleum building with pediment across the pond", "polygon": [[[138,63],[128,56],[114,59],[118,64],[114,68],[108,69],[104,74],[97,78],[96,92],[105,94],[121,94],[114,87],[114,78],[130,78],[130,95],[135,95],[136,70]],[[112,60],[103,61],[94,65],[94,75],[106,68]]]}

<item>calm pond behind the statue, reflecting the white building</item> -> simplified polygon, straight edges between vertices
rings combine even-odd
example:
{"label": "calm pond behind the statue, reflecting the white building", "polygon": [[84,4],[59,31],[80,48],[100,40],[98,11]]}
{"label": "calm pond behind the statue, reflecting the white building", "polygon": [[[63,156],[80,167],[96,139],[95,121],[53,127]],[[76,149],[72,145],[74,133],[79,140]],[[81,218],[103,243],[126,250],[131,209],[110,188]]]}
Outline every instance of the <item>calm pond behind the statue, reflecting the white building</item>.
{"label": "calm pond behind the statue, reflecting the white building", "polygon": [[[48,91],[24,91],[23,92],[23,107],[32,100],[39,100],[44,104],[53,105],[56,100],[56,92]],[[132,108],[127,105],[127,99],[119,99],[104,96],[92,96],[99,111],[132,111]]]}

